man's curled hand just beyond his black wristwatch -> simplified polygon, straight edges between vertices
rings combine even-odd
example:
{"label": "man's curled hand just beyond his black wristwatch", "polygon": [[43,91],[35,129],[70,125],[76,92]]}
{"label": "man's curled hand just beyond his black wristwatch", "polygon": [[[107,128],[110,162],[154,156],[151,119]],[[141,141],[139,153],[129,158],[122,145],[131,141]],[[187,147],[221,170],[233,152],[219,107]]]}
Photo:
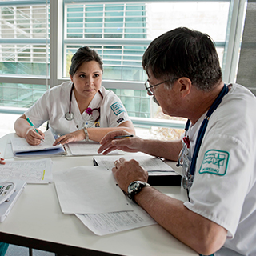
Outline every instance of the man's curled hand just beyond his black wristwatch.
{"label": "man's curled hand just beyond his black wristwatch", "polygon": [[118,182],[118,186],[125,192],[127,192],[130,182],[147,182],[147,171],[134,159],[126,161],[125,158],[120,158],[114,162],[114,166],[112,168],[114,178]]}

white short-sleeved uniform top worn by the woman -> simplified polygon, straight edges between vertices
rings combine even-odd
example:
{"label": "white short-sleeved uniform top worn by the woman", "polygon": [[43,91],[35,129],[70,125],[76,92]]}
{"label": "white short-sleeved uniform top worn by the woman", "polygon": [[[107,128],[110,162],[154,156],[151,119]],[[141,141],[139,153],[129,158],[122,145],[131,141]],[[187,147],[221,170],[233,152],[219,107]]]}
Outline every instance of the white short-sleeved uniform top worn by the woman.
{"label": "white short-sleeved uniform top worn by the woman", "polygon": [[[99,114],[97,110],[94,110],[91,116],[86,111],[80,114],[74,92],[71,100],[71,112],[74,113],[74,119],[66,120],[65,114],[69,112],[70,108],[71,86],[72,82],[63,82],[61,85],[47,90],[29,110],[26,110],[26,118],[30,118],[35,127],[39,127],[49,120],[49,126],[54,134],[68,134],[80,130],[86,122],[96,120]],[[97,93],[89,105],[91,109],[100,106],[100,119],[98,121],[100,127],[117,127],[122,122],[130,121],[118,96],[114,92],[106,90],[103,86],[101,86],[100,91],[103,99]]]}

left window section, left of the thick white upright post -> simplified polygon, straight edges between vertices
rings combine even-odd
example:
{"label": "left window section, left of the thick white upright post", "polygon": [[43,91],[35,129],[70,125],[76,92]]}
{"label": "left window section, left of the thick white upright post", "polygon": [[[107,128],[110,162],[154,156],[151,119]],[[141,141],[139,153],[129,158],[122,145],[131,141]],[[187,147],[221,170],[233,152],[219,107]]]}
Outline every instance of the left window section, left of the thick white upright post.
{"label": "left window section, left of the thick white upright post", "polygon": [[[46,81],[50,53],[49,21],[46,18],[49,6],[46,1],[38,1],[33,6],[23,2],[16,6],[11,2],[9,5],[6,1],[0,2],[0,74],[5,78],[30,76]],[[28,84],[1,82],[0,106],[31,106],[48,88],[45,82],[40,84],[42,80],[34,79]]]}

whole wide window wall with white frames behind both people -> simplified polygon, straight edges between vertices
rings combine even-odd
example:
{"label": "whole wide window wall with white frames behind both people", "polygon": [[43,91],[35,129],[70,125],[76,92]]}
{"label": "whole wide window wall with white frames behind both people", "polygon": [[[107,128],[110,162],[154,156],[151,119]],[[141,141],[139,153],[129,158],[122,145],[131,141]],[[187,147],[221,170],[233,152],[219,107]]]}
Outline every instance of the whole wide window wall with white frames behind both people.
{"label": "whole wide window wall with white frames behind both people", "polygon": [[144,90],[141,62],[149,43],[178,26],[205,32],[216,43],[224,81],[234,82],[242,2],[0,1],[0,107],[31,106],[49,86],[69,79],[74,52],[90,46],[104,62],[102,85],[118,94],[135,124],[146,124],[142,118],[161,116]]}

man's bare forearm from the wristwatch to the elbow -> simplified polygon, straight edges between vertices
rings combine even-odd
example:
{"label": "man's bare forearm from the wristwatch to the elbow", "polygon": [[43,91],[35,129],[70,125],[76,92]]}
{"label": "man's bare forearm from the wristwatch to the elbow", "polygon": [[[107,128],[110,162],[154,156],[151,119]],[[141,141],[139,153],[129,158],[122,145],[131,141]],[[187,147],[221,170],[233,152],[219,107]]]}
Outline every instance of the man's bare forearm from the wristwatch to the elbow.
{"label": "man's bare forearm from the wristwatch to the elbow", "polygon": [[152,187],[143,188],[134,199],[170,234],[199,254],[213,254],[226,240],[226,230],[222,226],[188,210],[182,201]]}

